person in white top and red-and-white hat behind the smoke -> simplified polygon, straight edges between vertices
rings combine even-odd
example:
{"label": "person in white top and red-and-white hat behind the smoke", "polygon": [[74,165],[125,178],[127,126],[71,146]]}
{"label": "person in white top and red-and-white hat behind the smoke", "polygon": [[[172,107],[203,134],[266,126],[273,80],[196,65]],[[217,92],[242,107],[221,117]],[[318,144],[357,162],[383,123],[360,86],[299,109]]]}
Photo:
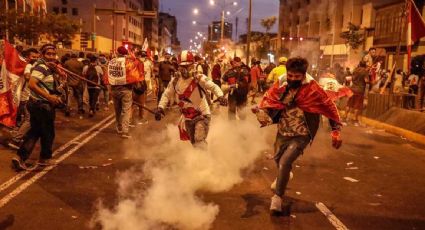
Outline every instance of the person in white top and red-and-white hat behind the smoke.
{"label": "person in white top and red-and-white hat behind the smoke", "polygon": [[159,101],[155,119],[161,120],[168,102],[176,98],[181,112],[180,139],[190,141],[195,147],[205,147],[211,120],[206,91],[213,93],[223,106],[227,105],[227,100],[220,87],[195,68],[193,54],[183,51],[179,56],[179,68]]}

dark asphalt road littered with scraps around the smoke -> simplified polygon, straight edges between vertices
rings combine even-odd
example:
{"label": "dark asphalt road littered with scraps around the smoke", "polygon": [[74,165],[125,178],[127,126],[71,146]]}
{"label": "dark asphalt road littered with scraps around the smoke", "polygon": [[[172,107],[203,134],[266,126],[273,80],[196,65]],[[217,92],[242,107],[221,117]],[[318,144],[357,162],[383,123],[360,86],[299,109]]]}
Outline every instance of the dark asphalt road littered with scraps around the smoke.
{"label": "dark asphalt road littered with scraps around the smoke", "polygon": [[[101,112],[93,119],[59,115],[56,167],[17,174],[10,169],[13,151],[1,147],[0,229],[101,228],[93,224],[93,217],[100,200],[109,208],[118,202],[117,174],[145,163],[129,157],[126,148],[143,146],[144,137],[177,119],[175,112],[163,122],[149,116],[147,125],[132,130],[132,140],[123,140],[115,134],[110,115]],[[267,132],[271,153],[275,129]],[[276,167],[267,153],[244,170],[243,182],[229,191],[200,192],[199,199],[219,206],[211,228],[338,229],[340,223],[339,229],[425,229],[424,146],[383,130],[350,125],[344,127],[343,140],[340,150],[332,149],[327,128],[321,128],[294,165],[284,216],[269,215]],[[34,151],[32,158],[37,155]],[[149,175],[141,180],[148,181]],[[147,189],[149,182],[143,185]],[[182,205],[173,215],[185,208]]]}

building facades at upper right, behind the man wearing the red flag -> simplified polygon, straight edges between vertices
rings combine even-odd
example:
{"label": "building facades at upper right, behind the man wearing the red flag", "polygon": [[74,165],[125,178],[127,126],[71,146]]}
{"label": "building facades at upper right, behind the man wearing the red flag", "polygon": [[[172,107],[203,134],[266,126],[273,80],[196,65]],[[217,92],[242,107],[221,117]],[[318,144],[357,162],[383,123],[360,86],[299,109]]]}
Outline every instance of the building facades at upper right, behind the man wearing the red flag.
{"label": "building facades at upper right, behind the man wearing the red flag", "polygon": [[[416,2],[422,12],[423,3]],[[407,70],[404,5],[404,0],[280,0],[276,53],[291,56],[310,47],[322,67],[334,63],[354,67],[366,50],[376,47],[386,67],[396,61],[398,68]],[[360,26],[363,42],[358,49],[340,37],[349,23]],[[396,57],[399,40],[401,55]],[[412,56],[423,52],[422,47],[417,43]]]}

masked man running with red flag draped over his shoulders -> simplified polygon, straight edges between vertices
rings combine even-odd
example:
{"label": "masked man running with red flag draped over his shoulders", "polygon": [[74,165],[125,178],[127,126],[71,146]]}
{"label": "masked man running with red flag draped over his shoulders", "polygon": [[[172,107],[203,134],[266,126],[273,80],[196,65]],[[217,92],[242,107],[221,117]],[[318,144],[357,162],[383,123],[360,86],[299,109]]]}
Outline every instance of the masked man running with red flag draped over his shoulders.
{"label": "masked man running with red flag draped over his shoulders", "polygon": [[307,75],[308,62],[291,58],[287,74],[279,77],[266,92],[259,108],[254,109],[262,126],[277,124],[274,159],[278,166],[275,195],[271,199],[272,214],[282,212],[282,197],[288,184],[292,163],[314,139],[320,115],[329,118],[332,146],[341,147],[340,117],[328,94]]}

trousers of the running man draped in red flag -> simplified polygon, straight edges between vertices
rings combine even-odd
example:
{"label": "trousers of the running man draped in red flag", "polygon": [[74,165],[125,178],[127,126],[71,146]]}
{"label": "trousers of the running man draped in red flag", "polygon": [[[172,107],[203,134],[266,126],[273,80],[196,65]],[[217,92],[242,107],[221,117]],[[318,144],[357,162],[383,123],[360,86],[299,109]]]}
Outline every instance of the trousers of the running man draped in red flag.
{"label": "trousers of the running man draped in red flag", "polygon": [[276,181],[276,195],[282,197],[285,194],[289,181],[289,174],[292,170],[292,163],[304,152],[310,143],[309,136],[285,137],[279,132],[275,142],[275,157],[278,175]]}

